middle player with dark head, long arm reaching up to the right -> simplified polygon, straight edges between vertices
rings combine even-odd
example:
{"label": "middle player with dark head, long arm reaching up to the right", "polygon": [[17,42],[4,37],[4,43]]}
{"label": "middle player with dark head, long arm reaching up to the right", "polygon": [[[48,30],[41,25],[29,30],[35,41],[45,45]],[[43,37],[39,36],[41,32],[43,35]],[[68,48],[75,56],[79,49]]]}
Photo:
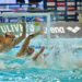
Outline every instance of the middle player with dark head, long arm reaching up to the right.
{"label": "middle player with dark head, long arm reaching up to the right", "polygon": [[25,39],[25,42],[24,42],[24,44],[22,45],[22,47],[21,47],[20,51],[17,52],[16,57],[21,57],[21,56],[24,56],[24,55],[25,55],[25,56],[31,56],[31,55],[34,52],[34,48],[33,48],[33,47],[28,47],[30,40],[31,40],[32,38],[34,38],[35,36],[43,34],[43,32],[44,32],[44,30],[42,28],[42,30],[38,31],[37,33],[30,35],[30,36]]}

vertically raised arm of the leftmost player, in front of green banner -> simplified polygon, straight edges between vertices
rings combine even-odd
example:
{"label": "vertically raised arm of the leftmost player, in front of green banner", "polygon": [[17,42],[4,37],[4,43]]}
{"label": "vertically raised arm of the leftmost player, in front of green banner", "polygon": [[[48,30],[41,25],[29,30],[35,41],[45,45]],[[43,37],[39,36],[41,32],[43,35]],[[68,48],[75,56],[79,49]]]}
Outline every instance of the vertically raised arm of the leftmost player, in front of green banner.
{"label": "vertically raised arm of the leftmost player, in front of green banner", "polygon": [[14,45],[20,44],[20,42],[25,38],[25,35],[26,35],[26,26],[25,26],[25,24],[26,24],[25,22],[22,22],[23,33],[22,33],[22,35],[20,37],[14,39]]}

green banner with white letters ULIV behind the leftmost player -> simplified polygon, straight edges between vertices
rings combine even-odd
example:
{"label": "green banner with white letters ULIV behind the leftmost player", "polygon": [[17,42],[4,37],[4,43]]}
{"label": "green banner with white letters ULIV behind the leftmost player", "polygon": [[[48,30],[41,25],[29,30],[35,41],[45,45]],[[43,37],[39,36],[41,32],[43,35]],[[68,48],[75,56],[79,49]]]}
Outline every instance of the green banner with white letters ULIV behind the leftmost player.
{"label": "green banner with white letters ULIV behind the leftmost player", "polygon": [[20,35],[22,25],[19,23],[0,23],[0,35],[4,35],[7,32],[13,32],[15,35]]}

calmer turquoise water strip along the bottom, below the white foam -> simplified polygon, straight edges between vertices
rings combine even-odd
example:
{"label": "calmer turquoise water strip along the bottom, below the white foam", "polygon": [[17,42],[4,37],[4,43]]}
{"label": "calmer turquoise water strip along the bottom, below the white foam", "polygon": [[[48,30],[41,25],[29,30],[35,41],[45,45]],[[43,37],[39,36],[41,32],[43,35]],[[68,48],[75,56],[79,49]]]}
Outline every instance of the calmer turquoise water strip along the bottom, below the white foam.
{"label": "calmer turquoise water strip along the bottom, below the white foam", "polygon": [[72,70],[54,70],[54,69],[16,69],[0,70],[1,81],[20,81],[20,82],[81,82],[82,74]]}

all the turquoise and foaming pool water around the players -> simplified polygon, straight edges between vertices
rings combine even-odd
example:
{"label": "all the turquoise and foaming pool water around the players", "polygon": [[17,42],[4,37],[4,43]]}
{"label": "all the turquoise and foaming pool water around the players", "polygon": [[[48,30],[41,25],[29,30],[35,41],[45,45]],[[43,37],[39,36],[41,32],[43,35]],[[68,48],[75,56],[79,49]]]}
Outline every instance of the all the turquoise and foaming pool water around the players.
{"label": "all the turquoise and foaming pool water around the players", "polygon": [[22,43],[9,52],[1,52],[1,82],[82,82],[82,38],[50,39],[49,47],[46,39],[33,40],[30,46],[35,47],[35,52],[46,46],[45,56],[40,55],[37,61],[16,58]]}

